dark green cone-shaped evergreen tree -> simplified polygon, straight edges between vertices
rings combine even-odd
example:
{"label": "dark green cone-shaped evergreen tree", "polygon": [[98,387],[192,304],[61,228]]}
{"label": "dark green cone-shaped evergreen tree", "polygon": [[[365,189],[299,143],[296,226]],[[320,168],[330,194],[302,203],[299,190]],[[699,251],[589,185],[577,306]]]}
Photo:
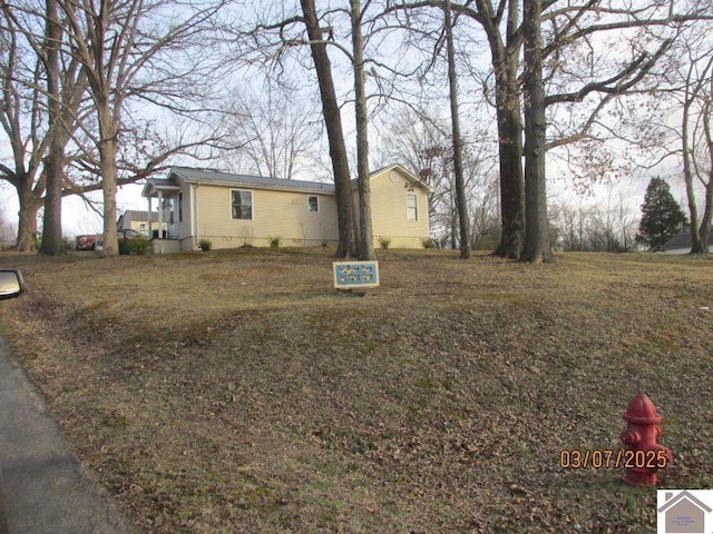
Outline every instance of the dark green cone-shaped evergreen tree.
{"label": "dark green cone-shaped evergreen tree", "polygon": [[675,236],[687,221],[678,202],[671,195],[668,184],[652,178],[642,204],[642,221],[636,240],[651,250],[661,250],[664,243]]}

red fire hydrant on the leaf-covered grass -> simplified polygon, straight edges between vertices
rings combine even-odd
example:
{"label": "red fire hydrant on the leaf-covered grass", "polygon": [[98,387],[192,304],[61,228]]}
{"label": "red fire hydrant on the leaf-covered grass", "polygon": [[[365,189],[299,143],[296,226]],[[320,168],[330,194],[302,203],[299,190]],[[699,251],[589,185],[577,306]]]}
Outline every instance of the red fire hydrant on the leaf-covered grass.
{"label": "red fire hydrant on the leaf-covered grass", "polygon": [[643,393],[628,403],[622,414],[626,429],[621,439],[625,445],[623,465],[626,468],[624,482],[635,486],[651,486],[658,483],[657,469],[665,468],[673,459],[667,447],[658,445],[661,415],[656,406]]}

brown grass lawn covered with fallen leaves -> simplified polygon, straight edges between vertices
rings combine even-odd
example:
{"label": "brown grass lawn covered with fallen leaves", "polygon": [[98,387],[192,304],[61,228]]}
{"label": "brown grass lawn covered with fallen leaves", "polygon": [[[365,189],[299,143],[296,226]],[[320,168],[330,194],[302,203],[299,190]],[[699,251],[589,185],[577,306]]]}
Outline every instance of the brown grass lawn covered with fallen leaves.
{"label": "brown grass lawn covered with fallen leaves", "polygon": [[713,487],[713,261],[380,250],[358,298],[330,254],[4,255],[0,323],[147,532],[654,532],[655,488],[559,464],[637,392],[662,485]]}

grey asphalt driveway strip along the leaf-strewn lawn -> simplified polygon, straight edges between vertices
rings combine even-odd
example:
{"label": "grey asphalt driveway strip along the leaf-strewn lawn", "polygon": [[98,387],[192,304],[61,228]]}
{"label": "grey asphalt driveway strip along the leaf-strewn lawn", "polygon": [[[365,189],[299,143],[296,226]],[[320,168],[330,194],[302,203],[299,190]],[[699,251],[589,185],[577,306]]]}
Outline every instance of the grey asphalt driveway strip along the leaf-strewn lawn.
{"label": "grey asphalt driveway strip along the leaf-strewn lawn", "polygon": [[2,338],[0,469],[0,534],[138,532],[71,453]]}

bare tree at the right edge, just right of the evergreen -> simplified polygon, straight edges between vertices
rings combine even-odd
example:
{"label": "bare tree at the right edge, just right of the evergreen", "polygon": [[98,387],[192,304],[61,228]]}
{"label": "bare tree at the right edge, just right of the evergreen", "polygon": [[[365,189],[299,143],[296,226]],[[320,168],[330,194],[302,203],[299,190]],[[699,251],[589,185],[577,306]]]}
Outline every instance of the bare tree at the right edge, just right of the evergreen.
{"label": "bare tree at the right edge, just right of the evergreen", "polygon": [[646,170],[661,172],[662,164],[676,161],[686,190],[691,251],[705,254],[713,211],[712,19],[706,2],[690,7],[674,18],[681,31],[658,61],[652,82],[621,106],[617,128],[608,131],[618,142],[629,144],[635,164]]}

